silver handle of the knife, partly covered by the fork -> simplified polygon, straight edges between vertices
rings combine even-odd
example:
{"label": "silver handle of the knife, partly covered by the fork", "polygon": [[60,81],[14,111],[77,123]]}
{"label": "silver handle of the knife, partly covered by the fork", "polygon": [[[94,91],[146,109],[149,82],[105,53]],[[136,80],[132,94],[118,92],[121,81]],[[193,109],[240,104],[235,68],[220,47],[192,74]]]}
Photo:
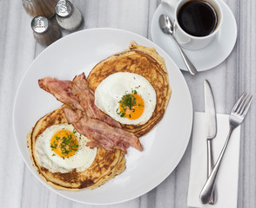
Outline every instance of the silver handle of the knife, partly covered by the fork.
{"label": "silver handle of the knife, partly covered by the fork", "polygon": [[[212,157],[212,140],[207,140],[207,177],[210,176],[212,168],[214,166],[213,157]],[[213,188],[212,196],[209,200],[210,205],[215,205],[216,203],[216,188]]]}

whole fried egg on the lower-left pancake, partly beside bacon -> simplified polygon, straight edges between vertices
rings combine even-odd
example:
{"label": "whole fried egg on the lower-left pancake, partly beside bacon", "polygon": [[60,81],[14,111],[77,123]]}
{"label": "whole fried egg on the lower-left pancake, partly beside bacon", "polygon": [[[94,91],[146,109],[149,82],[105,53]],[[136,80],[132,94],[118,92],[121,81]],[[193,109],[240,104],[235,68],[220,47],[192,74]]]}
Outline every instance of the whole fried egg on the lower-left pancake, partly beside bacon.
{"label": "whole fried egg on the lower-left pancake, partly beside bacon", "polygon": [[91,166],[97,154],[97,148],[86,146],[88,141],[71,124],[48,127],[36,141],[38,163],[50,172],[83,172]]}

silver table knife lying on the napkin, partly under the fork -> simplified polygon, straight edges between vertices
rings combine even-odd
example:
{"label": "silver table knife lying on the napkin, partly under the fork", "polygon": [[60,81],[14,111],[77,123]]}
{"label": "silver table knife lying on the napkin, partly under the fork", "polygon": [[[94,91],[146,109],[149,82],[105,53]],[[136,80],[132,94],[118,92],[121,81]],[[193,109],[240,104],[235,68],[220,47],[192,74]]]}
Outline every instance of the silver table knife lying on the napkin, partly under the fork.
{"label": "silver table knife lying on the napkin, partly under the fork", "polygon": [[[212,94],[212,88],[209,81],[204,81],[205,88],[205,133],[207,140],[207,176],[212,172],[214,166],[212,158],[212,140],[215,138],[217,133],[217,122],[216,122],[216,111],[214,98]],[[209,201],[210,205],[216,203],[216,188],[212,192],[212,198]]]}

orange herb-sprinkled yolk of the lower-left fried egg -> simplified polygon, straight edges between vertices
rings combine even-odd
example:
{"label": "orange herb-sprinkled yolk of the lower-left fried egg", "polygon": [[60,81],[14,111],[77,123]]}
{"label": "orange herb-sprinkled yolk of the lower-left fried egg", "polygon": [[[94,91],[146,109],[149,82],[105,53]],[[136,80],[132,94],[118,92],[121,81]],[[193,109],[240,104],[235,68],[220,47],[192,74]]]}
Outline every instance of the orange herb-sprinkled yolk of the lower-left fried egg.
{"label": "orange herb-sprinkled yolk of the lower-left fried egg", "polygon": [[60,130],[51,138],[51,150],[62,158],[69,158],[77,152],[78,141],[74,133]]}

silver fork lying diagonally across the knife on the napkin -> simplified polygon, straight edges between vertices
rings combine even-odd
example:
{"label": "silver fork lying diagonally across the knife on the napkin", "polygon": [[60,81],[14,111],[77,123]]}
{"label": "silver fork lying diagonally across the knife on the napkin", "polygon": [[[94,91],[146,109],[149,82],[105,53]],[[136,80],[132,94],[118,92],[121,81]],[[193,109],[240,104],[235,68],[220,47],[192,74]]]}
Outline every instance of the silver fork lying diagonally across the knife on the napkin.
{"label": "silver fork lying diagonally across the knife on the napkin", "polygon": [[228,136],[226,138],[226,142],[221,150],[221,153],[219,154],[219,158],[213,167],[212,173],[208,177],[207,181],[205,182],[205,185],[200,193],[200,200],[203,204],[207,204],[209,200],[211,199],[212,191],[216,182],[216,176],[219,171],[219,166],[221,164],[221,160],[224,156],[224,153],[226,152],[226,146],[230,140],[230,137],[232,135],[232,131],[239,127],[239,125],[243,122],[243,120],[246,117],[246,114],[248,112],[248,109],[251,105],[253,95],[243,93],[240,95],[239,100],[236,102],[234,107],[232,107],[232,112],[229,117],[229,125],[230,130],[228,133]]}

